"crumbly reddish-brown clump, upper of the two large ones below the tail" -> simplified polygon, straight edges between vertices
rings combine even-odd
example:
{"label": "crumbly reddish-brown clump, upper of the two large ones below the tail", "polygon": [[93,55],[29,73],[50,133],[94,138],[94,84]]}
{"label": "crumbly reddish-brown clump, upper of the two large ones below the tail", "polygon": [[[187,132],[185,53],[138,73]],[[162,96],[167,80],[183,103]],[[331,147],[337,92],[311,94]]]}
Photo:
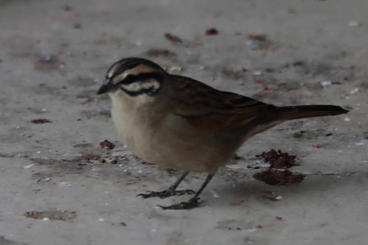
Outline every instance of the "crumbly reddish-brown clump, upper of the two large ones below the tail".
{"label": "crumbly reddish-brown clump, upper of the two large ones below the tail", "polygon": [[256,156],[263,158],[265,162],[269,162],[270,168],[273,169],[288,169],[294,165],[295,158],[297,157],[283,153],[280,150],[275,151],[274,149],[268,152],[262,152],[262,154]]}

